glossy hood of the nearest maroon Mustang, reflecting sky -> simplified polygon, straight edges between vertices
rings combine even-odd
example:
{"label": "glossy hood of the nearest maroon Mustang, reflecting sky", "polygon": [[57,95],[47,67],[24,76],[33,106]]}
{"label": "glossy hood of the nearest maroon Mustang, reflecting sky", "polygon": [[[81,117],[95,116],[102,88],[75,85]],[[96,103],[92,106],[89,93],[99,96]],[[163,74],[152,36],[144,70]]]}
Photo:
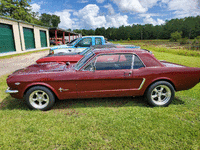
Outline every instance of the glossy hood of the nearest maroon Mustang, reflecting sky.
{"label": "glossy hood of the nearest maroon Mustang, reflecting sky", "polygon": [[18,74],[30,74],[30,73],[42,73],[42,72],[58,72],[66,69],[70,70],[71,66],[67,66],[64,63],[40,63],[33,64],[26,68],[16,70],[12,75]]}

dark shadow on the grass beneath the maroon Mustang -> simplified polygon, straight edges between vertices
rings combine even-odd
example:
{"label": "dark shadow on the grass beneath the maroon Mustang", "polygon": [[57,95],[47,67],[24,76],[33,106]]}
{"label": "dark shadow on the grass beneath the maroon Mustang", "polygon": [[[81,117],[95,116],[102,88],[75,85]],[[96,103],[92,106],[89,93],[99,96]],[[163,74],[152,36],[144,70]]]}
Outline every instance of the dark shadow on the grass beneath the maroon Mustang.
{"label": "dark shadow on the grass beneath the maroon Mustang", "polygon": [[[182,105],[184,101],[175,98],[170,105]],[[111,97],[56,100],[52,109],[74,109],[87,107],[151,107],[143,97]],[[0,103],[0,110],[29,110],[24,99],[7,96]]]}

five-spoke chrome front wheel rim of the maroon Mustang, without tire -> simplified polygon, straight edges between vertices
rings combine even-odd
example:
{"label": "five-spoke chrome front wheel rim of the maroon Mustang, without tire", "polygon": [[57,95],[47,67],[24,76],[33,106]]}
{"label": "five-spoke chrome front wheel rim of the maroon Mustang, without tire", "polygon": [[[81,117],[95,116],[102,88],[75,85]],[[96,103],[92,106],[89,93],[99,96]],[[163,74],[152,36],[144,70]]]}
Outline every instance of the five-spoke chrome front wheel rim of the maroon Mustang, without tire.
{"label": "five-spoke chrome front wheel rim of the maroon Mustang, without tire", "polygon": [[42,90],[36,90],[30,94],[29,102],[35,109],[43,109],[49,104],[49,96]]}

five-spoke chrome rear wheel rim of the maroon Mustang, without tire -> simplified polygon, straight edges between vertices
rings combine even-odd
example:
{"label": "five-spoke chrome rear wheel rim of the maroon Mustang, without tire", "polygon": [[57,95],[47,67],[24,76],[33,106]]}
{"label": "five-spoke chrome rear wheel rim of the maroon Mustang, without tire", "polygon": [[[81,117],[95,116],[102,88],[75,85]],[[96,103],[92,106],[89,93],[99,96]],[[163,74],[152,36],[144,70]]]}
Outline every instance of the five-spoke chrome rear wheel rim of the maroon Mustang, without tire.
{"label": "five-spoke chrome rear wheel rim of the maroon Mustang, without tire", "polygon": [[171,90],[166,85],[158,85],[151,92],[151,100],[156,105],[165,105],[171,99]]}

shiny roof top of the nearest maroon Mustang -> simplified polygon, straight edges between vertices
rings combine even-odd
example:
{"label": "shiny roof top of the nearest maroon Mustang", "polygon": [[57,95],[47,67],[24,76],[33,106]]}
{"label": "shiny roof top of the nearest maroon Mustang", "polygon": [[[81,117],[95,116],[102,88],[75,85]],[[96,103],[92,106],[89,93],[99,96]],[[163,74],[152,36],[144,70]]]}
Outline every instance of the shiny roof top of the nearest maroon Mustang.
{"label": "shiny roof top of the nearest maroon Mustang", "polygon": [[149,53],[150,51],[145,49],[134,49],[134,48],[103,48],[103,49],[94,49],[95,54],[105,54],[105,53]]}

